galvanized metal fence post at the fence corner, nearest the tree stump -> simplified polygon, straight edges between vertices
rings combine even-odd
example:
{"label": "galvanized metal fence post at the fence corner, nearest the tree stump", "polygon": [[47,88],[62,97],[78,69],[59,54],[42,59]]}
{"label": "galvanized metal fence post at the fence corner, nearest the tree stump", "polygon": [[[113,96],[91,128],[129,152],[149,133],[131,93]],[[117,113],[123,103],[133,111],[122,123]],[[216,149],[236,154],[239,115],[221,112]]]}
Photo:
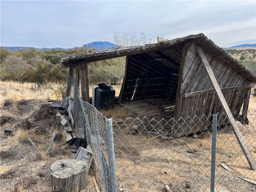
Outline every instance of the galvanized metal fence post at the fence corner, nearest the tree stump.
{"label": "galvanized metal fence post at the fence corner, nearest the tree stump", "polygon": [[110,183],[113,192],[116,192],[116,165],[115,165],[115,152],[114,152],[114,137],[112,118],[106,119],[107,123],[107,143],[108,143],[108,161],[110,172]]}

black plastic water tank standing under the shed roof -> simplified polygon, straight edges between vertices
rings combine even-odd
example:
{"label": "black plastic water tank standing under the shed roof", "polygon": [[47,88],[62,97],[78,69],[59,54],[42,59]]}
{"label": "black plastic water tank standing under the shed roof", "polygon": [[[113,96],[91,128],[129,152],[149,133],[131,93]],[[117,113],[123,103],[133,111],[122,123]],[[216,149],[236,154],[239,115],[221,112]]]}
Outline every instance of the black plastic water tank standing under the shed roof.
{"label": "black plastic water tank standing under the shed roof", "polygon": [[94,92],[94,105],[97,109],[108,109],[115,105],[115,90],[106,83],[99,83]]}

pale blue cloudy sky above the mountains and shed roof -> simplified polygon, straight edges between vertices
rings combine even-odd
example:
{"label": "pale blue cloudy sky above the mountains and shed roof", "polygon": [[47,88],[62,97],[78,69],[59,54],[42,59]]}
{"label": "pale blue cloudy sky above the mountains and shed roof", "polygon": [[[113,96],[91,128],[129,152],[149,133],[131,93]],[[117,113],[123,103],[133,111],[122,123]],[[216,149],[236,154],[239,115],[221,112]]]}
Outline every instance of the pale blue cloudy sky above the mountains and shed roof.
{"label": "pale blue cloudy sky above the mountains and shed roof", "polygon": [[1,1],[1,46],[114,42],[114,31],[177,38],[204,33],[221,47],[255,43],[255,1]]}

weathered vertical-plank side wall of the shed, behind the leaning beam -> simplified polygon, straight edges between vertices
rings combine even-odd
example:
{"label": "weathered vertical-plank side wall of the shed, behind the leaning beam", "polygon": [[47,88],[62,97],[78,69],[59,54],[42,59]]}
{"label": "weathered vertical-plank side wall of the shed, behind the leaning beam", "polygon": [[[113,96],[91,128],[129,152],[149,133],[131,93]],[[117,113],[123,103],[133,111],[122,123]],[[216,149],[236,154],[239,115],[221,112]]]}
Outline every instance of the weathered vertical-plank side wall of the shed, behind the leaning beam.
{"label": "weathered vertical-plank side wall of the shed, behind the leaning beam", "polygon": [[[212,55],[208,53],[205,54],[220,87],[250,85],[250,82],[236,73],[236,71],[230,69],[217,59],[214,59]],[[197,131],[203,131],[210,124],[211,119],[207,119],[207,116],[209,114],[222,113],[223,111],[221,103],[214,91],[185,97],[186,93],[212,89],[213,87],[210,78],[207,76],[202,60],[196,52],[194,43],[189,46],[184,55],[182,83],[179,90],[180,102],[175,118],[179,119],[180,116],[183,118],[186,118],[187,116],[193,118],[195,115],[198,117],[205,115],[206,123],[202,124],[195,119],[194,123],[197,124],[197,126],[189,125],[189,128],[179,127],[175,130],[175,135],[177,135],[177,137],[195,133]],[[248,89],[250,88],[222,91],[232,113],[241,110]],[[199,126],[201,126],[201,128],[198,129]]]}

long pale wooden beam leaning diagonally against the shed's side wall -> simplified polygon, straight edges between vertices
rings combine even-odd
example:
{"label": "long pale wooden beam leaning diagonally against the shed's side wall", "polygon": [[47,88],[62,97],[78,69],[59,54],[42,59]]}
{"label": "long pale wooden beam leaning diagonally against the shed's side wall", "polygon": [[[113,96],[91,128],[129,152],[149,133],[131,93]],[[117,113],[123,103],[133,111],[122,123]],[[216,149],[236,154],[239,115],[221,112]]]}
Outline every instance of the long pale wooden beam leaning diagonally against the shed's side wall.
{"label": "long pale wooden beam leaning diagonally against the shed's side wall", "polygon": [[239,145],[241,146],[241,148],[243,150],[243,153],[244,153],[251,169],[255,171],[256,170],[256,164],[254,162],[254,159],[253,159],[249,149],[247,148],[247,146],[245,144],[245,139],[243,137],[243,134],[239,130],[238,124],[236,123],[236,120],[233,117],[233,115],[232,115],[232,113],[231,113],[231,111],[228,107],[228,103],[227,103],[223,93],[221,92],[220,86],[217,82],[217,79],[215,78],[215,76],[213,74],[212,68],[211,68],[211,66],[210,66],[210,64],[209,64],[209,62],[206,58],[206,55],[205,55],[202,47],[196,46],[196,51],[197,51],[197,54],[199,55],[199,57],[201,57],[201,59],[203,61],[204,67],[207,71],[208,76],[210,77],[210,81],[213,85],[213,89],[214,89],[215,93],[217,94],[217,97],[219,98],[221,106],[225,110],[225,113],[227,114],[227,116],[229,118],[230,124],[231,124],[231,126],[233,126],[233,129],[235,130],[235,135],[236,135],[237,141],[238,141]]}

